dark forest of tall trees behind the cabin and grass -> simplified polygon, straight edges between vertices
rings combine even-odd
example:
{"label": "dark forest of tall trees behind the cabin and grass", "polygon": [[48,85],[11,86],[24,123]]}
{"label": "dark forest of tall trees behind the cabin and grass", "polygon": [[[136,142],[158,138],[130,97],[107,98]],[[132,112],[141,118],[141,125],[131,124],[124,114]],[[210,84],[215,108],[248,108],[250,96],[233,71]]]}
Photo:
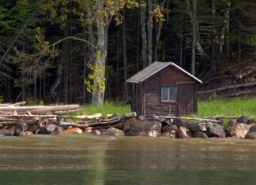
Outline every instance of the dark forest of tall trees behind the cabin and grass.
{"label": "dark forest of tall trees behind the cabin and grass", "polygon": [[255,0],[0,1],[0,102],[126,102],[153,61],[199,79],[253,65]]}

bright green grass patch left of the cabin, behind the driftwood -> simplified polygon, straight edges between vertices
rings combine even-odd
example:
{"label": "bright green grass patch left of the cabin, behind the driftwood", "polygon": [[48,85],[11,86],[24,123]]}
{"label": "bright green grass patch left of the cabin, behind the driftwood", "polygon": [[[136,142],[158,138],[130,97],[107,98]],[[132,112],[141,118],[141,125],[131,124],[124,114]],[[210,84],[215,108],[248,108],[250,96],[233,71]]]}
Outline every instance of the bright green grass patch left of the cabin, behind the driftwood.
{"label": "bright green grass patch left of the cabin, behind the driftwood", "polygon": [[81,111],[76,114],[92,115],[93,113],[107,114],[117,113],[124,115],[130,113],[130,105],[120,105],[111,102],[105,102],[104,105],[81,105]]}

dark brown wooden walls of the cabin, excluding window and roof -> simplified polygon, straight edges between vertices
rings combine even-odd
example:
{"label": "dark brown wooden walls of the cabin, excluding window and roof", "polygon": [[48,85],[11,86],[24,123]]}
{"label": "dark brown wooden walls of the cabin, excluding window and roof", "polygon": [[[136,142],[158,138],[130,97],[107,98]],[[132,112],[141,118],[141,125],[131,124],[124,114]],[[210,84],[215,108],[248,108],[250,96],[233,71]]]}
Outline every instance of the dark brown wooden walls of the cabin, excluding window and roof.
{"label": "dark brown wooden walls of the cabin, excluding window and roof", "polygon": [[[161,101],[161,87],[176,87],[176,102]],[[132,110],[138,115],[181,116],[197,112],[196,81],[173,66],[132,85]]]}

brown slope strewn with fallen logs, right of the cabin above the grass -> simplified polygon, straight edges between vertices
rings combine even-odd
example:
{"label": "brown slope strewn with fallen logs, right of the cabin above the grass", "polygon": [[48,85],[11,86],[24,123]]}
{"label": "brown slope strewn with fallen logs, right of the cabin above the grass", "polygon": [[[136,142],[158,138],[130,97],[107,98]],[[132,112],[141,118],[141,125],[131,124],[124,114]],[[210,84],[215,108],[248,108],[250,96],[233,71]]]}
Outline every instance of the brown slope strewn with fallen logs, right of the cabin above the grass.
{"label": "brown slope strewn with fallen logs, right of the cabin above the grass", "polygon": [[256,66],[243,64],[242,66],[221,66],[220,72],[201,79],[198,95],[209,98],[217,94],[221,98],[248,97],[256,94]]}

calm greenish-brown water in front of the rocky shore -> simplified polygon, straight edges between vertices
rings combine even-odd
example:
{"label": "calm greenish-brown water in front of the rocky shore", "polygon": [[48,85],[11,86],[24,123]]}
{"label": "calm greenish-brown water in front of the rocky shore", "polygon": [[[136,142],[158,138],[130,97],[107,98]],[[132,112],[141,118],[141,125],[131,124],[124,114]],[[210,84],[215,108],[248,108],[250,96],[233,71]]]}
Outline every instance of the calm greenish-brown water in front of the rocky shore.
{"label": "calm greenish-brown water in front of the rocky shore", "polygon": [[256,184],[256,142],[0,137],[0,184]]}

